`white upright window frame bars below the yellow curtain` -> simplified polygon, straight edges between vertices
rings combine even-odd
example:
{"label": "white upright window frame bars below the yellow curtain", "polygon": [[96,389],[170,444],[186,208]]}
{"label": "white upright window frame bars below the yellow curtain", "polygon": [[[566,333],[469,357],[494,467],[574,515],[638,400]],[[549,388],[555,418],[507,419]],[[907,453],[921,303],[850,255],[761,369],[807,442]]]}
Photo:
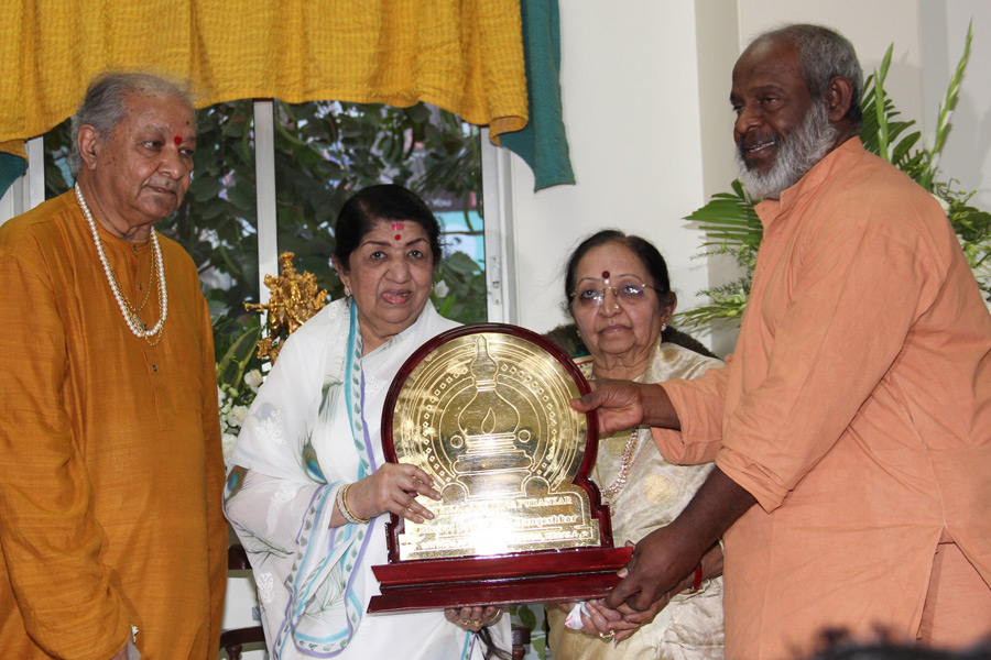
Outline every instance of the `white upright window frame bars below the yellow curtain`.
{"label": "white upright window frame bars below the yellow curtain", "polygon": [[[28,172],[0,199],[0,224],[33,209],[45,200],[43,138],[25,143]],[[486,204],[486,289],[488,319],[493,323],[516,323],[519,307],[513,256],[512,163],[504,148],[493,146],[489,130],[481,131],[482,193]],[[279,273],[279,242],[275,223],[275,122],[270,99],[254,101],[254,162],[258,204],[259,300],[269,300],[265,273]],[[26,204],[24,202],[26,200]]]}

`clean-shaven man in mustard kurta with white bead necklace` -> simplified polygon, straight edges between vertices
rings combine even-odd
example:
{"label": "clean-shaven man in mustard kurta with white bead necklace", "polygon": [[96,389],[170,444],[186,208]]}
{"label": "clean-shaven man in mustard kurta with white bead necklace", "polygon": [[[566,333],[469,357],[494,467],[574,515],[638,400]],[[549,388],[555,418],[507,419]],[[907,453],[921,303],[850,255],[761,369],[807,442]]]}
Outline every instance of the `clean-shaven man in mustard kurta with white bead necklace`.
{"label": "clean-shaven man in mustard kurta with white bead necklace", "polygon": [[189,186],[187,98],[90,85],[74,190],[0,227],[4,658],[216,657],[226,583],[210,319],[152,226]]}

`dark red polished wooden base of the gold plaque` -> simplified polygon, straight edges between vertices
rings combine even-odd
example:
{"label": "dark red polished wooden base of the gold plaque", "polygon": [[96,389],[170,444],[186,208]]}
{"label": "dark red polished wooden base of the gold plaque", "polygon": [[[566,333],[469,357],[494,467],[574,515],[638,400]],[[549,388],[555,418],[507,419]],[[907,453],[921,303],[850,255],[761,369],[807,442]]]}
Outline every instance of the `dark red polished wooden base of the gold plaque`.
{"label": "dark red polished wooden base of the gold plaque", "polygon": [[405,561],[372,566],[381,595],[371,614],[473,605],[601,598],[619,582],[632,548],[577,548]]}

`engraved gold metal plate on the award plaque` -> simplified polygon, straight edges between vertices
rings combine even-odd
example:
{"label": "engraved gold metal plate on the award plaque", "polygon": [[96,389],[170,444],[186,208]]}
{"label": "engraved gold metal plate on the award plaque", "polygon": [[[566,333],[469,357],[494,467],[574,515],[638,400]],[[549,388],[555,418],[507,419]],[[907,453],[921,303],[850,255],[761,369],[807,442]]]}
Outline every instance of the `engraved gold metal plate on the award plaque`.
{"label": "engraved gold metal plate on the award plaque", "polygon": [[406,522],[403,559],[599,542],[588,495],[573,483],[588,428],[568,402],[584,380],[525,334],[459,329],[393,385],[395,459],[426,471],[443,495],[423,501],[435,520]]}

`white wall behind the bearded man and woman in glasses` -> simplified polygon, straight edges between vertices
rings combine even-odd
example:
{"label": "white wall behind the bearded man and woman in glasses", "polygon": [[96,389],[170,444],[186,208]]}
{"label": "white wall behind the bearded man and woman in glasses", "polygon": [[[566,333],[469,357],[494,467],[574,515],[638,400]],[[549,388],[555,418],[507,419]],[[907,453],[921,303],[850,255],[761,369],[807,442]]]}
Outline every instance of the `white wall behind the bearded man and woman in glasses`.
{"label": "white wall behind the bearded man and woman in glasses", "polygon": [[[700,233],[680,219],[732,180],[730,74],[754,34],[786,22],[832,26],[853,42],[865,74],[894,43],[885,88],[902,118],[929,135],[971,15],[970,66],[943,165],[991,209],[987,0],[562,2],[562,91],[578,183],[534,194],[531,173],[512,158],[520,323],[546,331],[564,321],[564,261],[580,237],[609,226],[655,242],[682,309],[703,302],[695,293],[709,285],[709,270],[690,258]],[[714,268],[712,282],[723,270]],[[731,338],[711,344],[725,353]]]}

